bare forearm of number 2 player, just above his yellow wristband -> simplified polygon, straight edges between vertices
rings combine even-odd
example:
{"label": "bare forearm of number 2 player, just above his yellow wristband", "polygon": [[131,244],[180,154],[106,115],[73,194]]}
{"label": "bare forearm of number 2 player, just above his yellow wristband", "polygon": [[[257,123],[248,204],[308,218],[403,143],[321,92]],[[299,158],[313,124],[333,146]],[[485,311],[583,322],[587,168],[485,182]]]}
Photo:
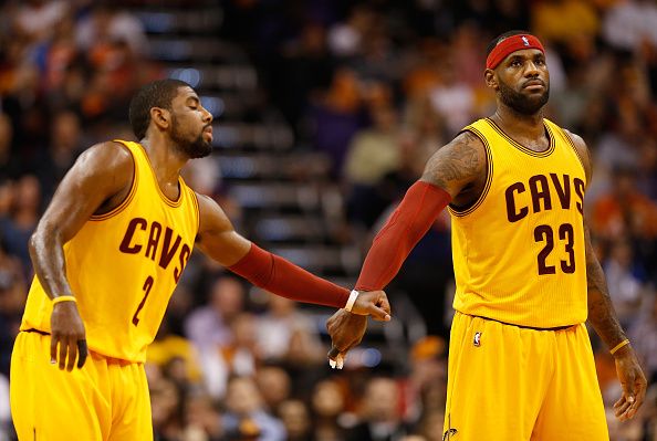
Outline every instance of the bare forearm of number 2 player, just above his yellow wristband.
{"label": "bare forearm of number 2 player, just above his yellow wristband", "polygon": [[30,238],[29,250],[34,273],[45,293],[51,298],[73,295],[66,280],[66,261],[58,230],[40,224]]}

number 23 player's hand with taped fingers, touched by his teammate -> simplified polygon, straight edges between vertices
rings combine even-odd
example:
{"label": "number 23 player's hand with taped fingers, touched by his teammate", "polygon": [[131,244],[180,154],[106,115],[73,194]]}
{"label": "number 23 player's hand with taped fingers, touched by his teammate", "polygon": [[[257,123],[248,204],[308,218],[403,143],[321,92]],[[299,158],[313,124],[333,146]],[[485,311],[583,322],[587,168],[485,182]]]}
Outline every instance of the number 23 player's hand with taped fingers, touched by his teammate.
{"label": "number 23 player's hand with taped fingers, touched by his teammate", "polygon": [[359,344],[365,335],[367,316],[338,309],[326,321],[326,329],[331,335],[328,364],[334,369],[342,369],[348,350]]}

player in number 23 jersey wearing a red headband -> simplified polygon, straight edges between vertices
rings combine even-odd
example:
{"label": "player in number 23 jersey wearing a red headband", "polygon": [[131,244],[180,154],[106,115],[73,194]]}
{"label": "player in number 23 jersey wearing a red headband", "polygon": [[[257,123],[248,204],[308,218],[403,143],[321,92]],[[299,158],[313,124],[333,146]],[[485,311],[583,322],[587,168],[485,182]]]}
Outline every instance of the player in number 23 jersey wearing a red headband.
{"label": "player in number 23 jersey wearing a red headband", "polygon": [[[646,379],[584,220],[591,157],[581,137],[543,117],[550,75],[539,39],[497,38],[484,78],[497,112],[429,159],[374,240],[356,288],[386,286],[449,206],[457,292],[445,440],[608,440],[586,319],[616,360],[618,419],[636,414]],[[364,322],[347,312],[330,319],[333,360]]]}

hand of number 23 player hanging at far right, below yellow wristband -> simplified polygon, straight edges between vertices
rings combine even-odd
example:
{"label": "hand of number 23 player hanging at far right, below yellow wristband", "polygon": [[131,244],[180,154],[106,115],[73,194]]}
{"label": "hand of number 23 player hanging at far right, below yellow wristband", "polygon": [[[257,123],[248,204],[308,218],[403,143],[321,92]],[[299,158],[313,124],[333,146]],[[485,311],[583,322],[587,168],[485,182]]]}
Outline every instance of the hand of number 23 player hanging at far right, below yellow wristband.
{"label": "hand of number 23 player hanging at far right, below yellow wristband", "polygon": [[614,414],[619,421],[634,418],[646,396],[647,381],[632,346],[626,345],[614,354],[616,374],[623,387],[620,399],[614,403]]}

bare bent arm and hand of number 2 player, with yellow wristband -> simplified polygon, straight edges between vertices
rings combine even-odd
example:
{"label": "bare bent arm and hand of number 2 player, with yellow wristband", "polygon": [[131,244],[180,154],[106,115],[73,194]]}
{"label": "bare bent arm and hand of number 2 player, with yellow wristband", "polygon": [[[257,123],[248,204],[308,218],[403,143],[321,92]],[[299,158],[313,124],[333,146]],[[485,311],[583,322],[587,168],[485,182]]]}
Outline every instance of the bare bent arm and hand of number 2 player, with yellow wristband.
{"label": "bare bent arm and hand of number 2 player, with yellow wristband", "polygon": [[[51,298],[79,294],[66,280],[63,245],[98,209],[121,203],[129,191],[133,167],[131,154],[119,144],[98,144],[80,156],[58,187],[29,243],[34,272]],[[53,306],[51,334],[51,363],[71,371],[80,349],[82,367],[85,332],[74,302]]]}

